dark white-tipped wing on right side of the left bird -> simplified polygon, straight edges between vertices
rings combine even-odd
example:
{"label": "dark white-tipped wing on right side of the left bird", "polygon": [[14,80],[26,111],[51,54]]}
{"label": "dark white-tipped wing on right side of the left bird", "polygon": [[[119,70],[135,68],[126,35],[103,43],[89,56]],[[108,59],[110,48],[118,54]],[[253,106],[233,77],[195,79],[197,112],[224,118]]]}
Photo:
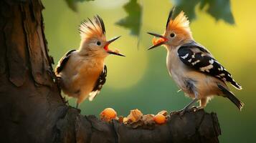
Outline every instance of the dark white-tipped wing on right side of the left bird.
{"label": "dark white-tipped wing on right side of the left bird", "polygon": [[92,101],[97,94],[100,93],[100,90],[103,88],[103,85],[106,82],[106,77],[107,77],[107,66],[104,65],[103,71],[100,73],[100,76],[95,83],[95,87],[93,88],[93,91],[90,92],[89,94],[89,100]]}

